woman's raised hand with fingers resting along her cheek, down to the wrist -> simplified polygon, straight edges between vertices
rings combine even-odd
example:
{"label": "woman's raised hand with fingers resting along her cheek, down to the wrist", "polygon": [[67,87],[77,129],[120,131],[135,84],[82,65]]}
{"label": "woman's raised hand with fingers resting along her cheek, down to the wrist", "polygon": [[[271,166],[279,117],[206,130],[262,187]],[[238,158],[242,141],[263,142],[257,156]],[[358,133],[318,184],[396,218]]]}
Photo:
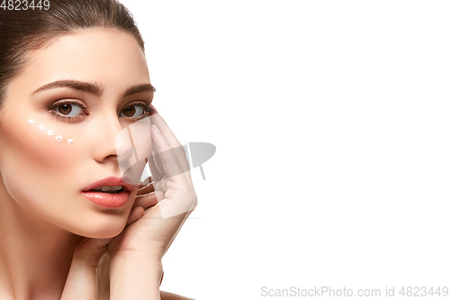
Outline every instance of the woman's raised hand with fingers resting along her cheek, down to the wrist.
{"label": "woman's raised hand with fingers resting along her cheek, down to the wrist", "polygon": [[138,191],[127,226],[108,245],[108,253],[142,253],[162,259],[185,219],[197,205],[184,148],[164,119],[150,116],[151,183]]}

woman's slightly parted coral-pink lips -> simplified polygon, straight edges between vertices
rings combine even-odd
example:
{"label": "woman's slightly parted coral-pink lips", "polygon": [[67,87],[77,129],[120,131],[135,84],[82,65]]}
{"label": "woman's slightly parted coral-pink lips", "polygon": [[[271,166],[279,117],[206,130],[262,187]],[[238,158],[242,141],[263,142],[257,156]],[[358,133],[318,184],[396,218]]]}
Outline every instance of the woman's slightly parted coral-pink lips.
{"label": "woman's slightly parted coral-pink lips", "polygon": [[82,190],[87,200],[103,207],[119,208],[128,203],[134,186],[120,177],[105,177]]}

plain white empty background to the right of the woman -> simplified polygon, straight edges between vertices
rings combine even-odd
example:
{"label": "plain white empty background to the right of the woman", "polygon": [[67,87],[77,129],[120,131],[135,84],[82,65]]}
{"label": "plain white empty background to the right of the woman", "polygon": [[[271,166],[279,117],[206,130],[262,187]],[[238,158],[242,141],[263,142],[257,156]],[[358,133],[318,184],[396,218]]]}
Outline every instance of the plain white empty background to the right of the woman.
{"label": "plain white empty background to the right of the woman", "polygon": [[158,112],[217,147],[163,290],[450,286],[447,1],[122,3]]}

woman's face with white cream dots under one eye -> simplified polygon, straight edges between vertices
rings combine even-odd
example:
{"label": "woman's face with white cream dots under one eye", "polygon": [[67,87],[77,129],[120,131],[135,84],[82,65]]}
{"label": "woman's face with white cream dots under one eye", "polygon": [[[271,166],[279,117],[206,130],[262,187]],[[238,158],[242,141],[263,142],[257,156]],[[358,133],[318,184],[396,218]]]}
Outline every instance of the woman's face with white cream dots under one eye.
{"label": "woman's face with white cream dots under one eye", "polygon": [[116,135],[148,116],[142,107],[151,104],[153,89],[138,41],[94,29],[60,37],[28,59],[8,86],[0,116],[0,199],[69,232],[115,236],[138,186],[119,207],[89,201],[84,191],[121,178]]}

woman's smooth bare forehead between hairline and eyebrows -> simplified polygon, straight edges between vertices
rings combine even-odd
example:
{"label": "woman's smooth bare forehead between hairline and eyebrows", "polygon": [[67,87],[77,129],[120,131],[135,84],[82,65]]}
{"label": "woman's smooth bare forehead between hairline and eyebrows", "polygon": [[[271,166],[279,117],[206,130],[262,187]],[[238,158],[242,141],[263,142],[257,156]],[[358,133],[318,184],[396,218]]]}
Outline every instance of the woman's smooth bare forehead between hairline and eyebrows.
{"label": "woman's smooth bare forehead between hairline and eyebrows", "polygon": [[[49,47],[32,51],[21,86],[43,86],[51,81],[76,79],[104,86],[130,86],[148,80],[148,66],[138,41],[116,29],[90,29],[58,37]],[[12,82],[13,84],[13,82]]]}

